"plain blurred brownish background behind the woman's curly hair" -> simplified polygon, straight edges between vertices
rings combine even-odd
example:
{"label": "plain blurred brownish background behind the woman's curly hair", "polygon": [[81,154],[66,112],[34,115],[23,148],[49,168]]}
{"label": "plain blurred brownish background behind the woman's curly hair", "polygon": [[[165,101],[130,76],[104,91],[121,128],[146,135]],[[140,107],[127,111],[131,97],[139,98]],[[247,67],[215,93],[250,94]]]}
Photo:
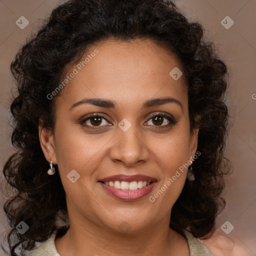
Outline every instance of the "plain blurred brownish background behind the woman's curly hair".
{"label": "plain blurred brownish background behind the woman's curly hair", "polygon": [[[1,169],[13,152],[8,125],[10,88],[13,87],[9,64],[25,38],[31,31],[36,31],[40,19],[59,2],[0,0]],[[203,24],[206,35],[216,42],[219,56],[229,69],[230,87],[226,102],[231,118],[226,156],[233,164],[233,173],[226,178],[226,207],[218,216],[216,232],[225,235],[220,226],[228,220],[234,229],[227,236],[238,240],[250,255],[256,255],[256,0],[175,0],[175,3],[190,20],[199,20]],[[229,29],[220,23],[227,15],[234,21]],[[20,16],[29,21],[24,29],[15,24]],[[0,208],[1,238],[6,229],[6,219]],[[2,255],[5,254],[0,252]]]}

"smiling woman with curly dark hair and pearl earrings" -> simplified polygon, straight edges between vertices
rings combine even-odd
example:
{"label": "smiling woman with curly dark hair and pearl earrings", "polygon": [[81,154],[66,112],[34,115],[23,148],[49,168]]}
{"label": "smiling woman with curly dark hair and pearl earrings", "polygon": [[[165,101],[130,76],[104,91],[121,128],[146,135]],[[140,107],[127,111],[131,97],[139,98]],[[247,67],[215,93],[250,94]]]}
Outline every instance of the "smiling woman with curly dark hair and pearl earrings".
{"label": "smiling woman with curly dark hair and pearl earrings", "polygon": [[11,255],[213,255],[227,69],[202,36],[170,1],[52,11],[11,63]]}

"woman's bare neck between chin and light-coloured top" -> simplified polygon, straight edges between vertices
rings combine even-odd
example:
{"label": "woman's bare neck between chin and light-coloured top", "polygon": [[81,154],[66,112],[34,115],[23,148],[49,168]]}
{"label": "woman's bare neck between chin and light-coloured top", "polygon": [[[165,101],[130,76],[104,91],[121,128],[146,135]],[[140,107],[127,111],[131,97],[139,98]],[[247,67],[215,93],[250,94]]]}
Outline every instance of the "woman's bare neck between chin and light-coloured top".
{"label": "woman's bare neck between chin and light-coloured top", "polygon": [[72,221],[66,233],[55,239],[58,253],[65,255],[189,255],[186,239],[169,227],[169,217],[143,230],[114,231],[89,219]]}

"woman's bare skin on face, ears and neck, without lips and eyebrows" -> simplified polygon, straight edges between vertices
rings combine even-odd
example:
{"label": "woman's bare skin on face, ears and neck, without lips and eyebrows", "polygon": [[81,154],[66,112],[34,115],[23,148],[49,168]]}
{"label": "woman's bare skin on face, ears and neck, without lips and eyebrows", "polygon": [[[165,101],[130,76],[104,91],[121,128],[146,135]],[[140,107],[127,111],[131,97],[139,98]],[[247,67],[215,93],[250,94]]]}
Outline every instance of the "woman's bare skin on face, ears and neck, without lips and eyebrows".
{"label": "woman's bare skin on face, ears and neck, without lips and eyebrows", "polygon": [[[181,70],[181,65],[174,55],[148,39],[101,41],[82,59],[95,48],[99,52],[56,97],[54,130],[39,126],[45,158],[58,165],[66,193],[70,227],[55,239],[56,249],[61,256],[188,256],[186,239],[169,227],[171,207],[183,188],[187,170],[154,202],[148,199],[196,152],[198,129],[189,128],[184,77],[175,81],[169,75],[174,67]],[[148,99],[166,96],[180,101],[182,107],[168,102],[141,108]],[[112,100],[116,108],[84,103],[70,109],[85,97]],[[169,123],[166,118],[153,122],[150,114],[159,111],[171,114],[177,122],[165,127]],[[90,113],[104,113],[107,119],[90,129],[93,123],[89,119],[79,122]],[[118,126],[123,118],[131,124],[126,131]],[[80,174],[75,183],[66,177],[72,169]],[[122,201],[97,182],[121,173],[148,175],[157,183],[149,195]],[[127,232],[119,228],[123,221],[129,226]]]}

